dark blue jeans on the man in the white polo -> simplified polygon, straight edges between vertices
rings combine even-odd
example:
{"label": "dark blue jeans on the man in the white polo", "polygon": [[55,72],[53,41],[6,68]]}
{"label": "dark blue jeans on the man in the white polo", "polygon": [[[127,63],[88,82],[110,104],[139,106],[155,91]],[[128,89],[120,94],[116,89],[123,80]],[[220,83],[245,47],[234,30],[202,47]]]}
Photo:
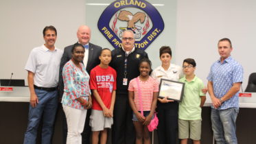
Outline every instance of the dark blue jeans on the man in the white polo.
{"label": "dark blue jeans on the man in the white polo", "polygon": [[30,105],[28,114],[27,131],[25,132],[24,144],[35,144],[38,125],[43,117],[42,144],[51,143],[54,130],[54,119],[58,108],[58,92],[35,89],[38,104],[35,108]]}

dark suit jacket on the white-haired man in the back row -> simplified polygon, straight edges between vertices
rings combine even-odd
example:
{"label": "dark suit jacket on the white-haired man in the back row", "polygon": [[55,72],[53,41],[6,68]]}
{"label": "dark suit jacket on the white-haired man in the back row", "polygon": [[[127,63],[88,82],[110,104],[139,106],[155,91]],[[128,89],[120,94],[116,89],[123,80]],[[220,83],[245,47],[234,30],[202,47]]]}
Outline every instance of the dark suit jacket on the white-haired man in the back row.
{"label": "dark suit jacket on the white-haired man in the back row", "polygon": [[[64,93],[64,83],[62,78],[62,69],[64,65],[72,58],[72,47],[73,45],[69,45],[65,47],[64,53],[62,55],[62,58],[60,60],[60,74],[59,74],[59,82],[58,82],[58,92],[59,96],[62,97]],[[89,43],[89,58],[86,65],[86,71],[90,74],[91,69],[96,67],[98,64],[100,64],[100,52],[102,51],[102,47],[98,45],[93,45],[92,43]]]}

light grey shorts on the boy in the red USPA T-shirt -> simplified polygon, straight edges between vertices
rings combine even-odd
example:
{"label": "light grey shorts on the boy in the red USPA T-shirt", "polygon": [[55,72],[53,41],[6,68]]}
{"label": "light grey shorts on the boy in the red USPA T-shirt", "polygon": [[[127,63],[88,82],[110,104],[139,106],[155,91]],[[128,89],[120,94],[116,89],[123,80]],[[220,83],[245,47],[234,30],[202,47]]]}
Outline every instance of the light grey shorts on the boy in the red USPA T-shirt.
{"label": "light grey shorts on the boy in the red USPA T-shirt", "polygon": [[113,117],[104,117],[102,110],[91,110],[91,131],[102,131],[104,128],[111,128],[111,125],[113,125]]}

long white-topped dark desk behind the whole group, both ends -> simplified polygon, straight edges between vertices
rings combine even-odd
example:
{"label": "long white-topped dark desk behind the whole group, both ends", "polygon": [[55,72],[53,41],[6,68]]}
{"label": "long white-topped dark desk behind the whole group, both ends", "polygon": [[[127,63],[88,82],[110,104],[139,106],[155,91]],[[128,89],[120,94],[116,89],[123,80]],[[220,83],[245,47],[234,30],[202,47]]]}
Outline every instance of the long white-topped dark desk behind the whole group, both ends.
{"label": "long white-topped dark desk behind the whole group, both ends", "polygon": [[[0,143],[23,143],[27,128],[27,114],[30,101],[28,87],[13,87],[13,92],[0,92]],[[211,99],[207,97],[202,108],[202,144],[212,143]],[[238,143],[253,144],[256,134],[256,93],[252,97],[240,97],[240,113],[237,116]],[[38,135],[40,139],[40,135]],[[62,110],[58,108],[53,143],[62,143]],[[154,144],[158,144],[154,132]]]}

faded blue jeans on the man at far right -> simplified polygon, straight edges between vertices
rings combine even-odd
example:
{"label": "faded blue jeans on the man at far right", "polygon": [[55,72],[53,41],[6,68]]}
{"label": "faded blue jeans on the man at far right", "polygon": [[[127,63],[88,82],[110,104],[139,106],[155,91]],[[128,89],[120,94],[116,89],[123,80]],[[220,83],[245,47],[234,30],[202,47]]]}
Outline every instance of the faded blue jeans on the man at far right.
{"label": "faded blue jeans on the man at far right", "polygon": [[237,144],[235,120],[239,108],[211,109],[211,124],[216,144]]}

